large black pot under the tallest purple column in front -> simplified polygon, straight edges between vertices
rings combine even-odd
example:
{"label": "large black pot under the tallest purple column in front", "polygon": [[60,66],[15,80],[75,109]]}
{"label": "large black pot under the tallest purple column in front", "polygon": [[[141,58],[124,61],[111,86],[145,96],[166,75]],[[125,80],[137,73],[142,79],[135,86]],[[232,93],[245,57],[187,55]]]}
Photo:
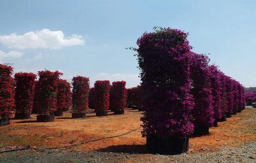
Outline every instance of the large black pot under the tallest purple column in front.
{"label": "large black pot under the tallest purple column in front", "polygon": [[150,153],[165,155],[181,154],[188,151],[188,140],[180,138],[160,139],[147,136],[147,149]]}

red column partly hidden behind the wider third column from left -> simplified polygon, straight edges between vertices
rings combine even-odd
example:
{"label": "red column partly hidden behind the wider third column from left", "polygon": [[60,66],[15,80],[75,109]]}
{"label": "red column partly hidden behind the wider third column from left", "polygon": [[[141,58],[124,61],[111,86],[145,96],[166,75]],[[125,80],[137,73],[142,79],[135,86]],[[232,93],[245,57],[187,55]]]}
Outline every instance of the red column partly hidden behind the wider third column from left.
{"label": "red column partly hidden behind the wider third column from left", "polygon": [[66,80],[59,79],[57,93],[57,112],[69,110],[71,101],[71,86]]}

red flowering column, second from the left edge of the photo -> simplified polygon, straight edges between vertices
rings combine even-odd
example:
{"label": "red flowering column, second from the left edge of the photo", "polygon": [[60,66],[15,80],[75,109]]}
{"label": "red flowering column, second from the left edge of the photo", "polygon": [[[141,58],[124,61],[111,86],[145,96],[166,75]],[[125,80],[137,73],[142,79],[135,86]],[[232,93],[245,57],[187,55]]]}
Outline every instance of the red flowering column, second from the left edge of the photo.
{"label": "red flowering column, second from the left edge of the photo", "polygon": [[36,75],[19,72],[15,74],[15,109],[17,114],[31,114],[33,108]]}

